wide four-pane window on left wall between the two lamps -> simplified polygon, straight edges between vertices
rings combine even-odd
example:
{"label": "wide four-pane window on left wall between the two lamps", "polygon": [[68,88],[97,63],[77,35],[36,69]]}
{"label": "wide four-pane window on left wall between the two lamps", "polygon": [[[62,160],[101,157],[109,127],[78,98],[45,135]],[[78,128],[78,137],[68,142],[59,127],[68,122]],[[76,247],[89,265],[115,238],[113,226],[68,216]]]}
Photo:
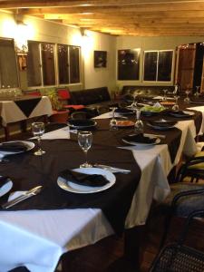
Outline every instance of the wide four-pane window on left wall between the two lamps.
{"label": "wide four-pane window on left wall between the two lamps", "polygon": [[80,47],[28,41],[27,79],[29,87],[51,86],[57,80],[59,84],[80,83]]}

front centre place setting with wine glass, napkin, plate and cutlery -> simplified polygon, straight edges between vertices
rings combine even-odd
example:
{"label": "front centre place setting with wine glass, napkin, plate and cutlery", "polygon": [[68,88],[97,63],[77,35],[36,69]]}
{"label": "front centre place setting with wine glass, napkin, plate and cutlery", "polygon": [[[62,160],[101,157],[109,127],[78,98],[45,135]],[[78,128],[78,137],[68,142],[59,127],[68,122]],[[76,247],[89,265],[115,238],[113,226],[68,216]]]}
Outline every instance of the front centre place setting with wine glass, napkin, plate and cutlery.
{"label": "front centre place setting with wine glass, napkin, plate and cutlery", "polygon": [[111,188],[115,182],[115,173],[128,174],[131,170],[112,167],[88,161],[88,151],[92,147],[92,131],[79,131],[78,144],[83,151],[85,161],[79,168],[63,170],[59,173],[57,184],[61,189],[73,193],[90,194]]}

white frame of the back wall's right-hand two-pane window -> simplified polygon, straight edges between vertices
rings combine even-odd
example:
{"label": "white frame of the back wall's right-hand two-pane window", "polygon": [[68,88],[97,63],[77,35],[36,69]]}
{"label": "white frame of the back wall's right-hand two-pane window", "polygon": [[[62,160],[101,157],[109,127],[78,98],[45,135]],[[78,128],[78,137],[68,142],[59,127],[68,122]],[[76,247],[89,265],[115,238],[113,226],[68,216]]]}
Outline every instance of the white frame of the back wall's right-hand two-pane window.
{"label": "white frame of the back wall's right-hand two-pane window", "polygon": [[[144,80],[144,66],[145,66],[145,53],[156,52],[157,53],[157,70],[156,70],[156,80],[155,81],[147,81]],[[159,72],[159,57],[160,52],[172,52],[172,60],[171,60],[171,71],[170,71],[170,81],[158,81],[158,72]],[[160,49],[160,50],[145,50],[143,52],[143,66],[142,66],[142,82],[143,83],[173,83],[173,63],[175,58],[175,51],[173,49]]]}

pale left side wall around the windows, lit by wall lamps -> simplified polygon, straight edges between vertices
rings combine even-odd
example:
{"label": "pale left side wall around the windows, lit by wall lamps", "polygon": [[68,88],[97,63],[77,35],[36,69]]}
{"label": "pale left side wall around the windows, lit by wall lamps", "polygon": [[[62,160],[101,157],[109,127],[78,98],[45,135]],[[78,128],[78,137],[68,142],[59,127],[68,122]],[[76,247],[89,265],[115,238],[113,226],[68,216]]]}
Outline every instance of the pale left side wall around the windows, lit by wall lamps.
{"label": "pale left side wall around the windows, lit by wall lamps", "polygon": [[[44,21],[32,16],[24,16],[23,21],[28,26],[28,40],[82,46],[82,84],[72,84],[71,90],[108,86],[111,91],[115,86],[116,38],[114,36],[87,31],[87,36],[83,37],[79,28]],[[15,38],[15,30],[14,15],[0,12],[0,36]],[[106,68],[94,69],[94,50],[107,51]],[[25,83],[26,77],[24,75],[21,75],[21,79]]]}

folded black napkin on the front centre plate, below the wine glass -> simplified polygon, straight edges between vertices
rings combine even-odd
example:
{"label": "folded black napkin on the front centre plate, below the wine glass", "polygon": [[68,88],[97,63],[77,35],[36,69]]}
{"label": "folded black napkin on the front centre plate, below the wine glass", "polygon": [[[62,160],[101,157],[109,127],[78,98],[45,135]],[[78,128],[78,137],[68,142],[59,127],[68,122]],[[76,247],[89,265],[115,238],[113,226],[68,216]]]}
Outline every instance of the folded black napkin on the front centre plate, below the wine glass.
{"label": "folded black napkin on the front centre plate, below the wine glass", "polygon": [[59,176],[64,180],[91,187],[102,187],[109,182],[102,175],[78,173],[73,170],[63,170]]}

